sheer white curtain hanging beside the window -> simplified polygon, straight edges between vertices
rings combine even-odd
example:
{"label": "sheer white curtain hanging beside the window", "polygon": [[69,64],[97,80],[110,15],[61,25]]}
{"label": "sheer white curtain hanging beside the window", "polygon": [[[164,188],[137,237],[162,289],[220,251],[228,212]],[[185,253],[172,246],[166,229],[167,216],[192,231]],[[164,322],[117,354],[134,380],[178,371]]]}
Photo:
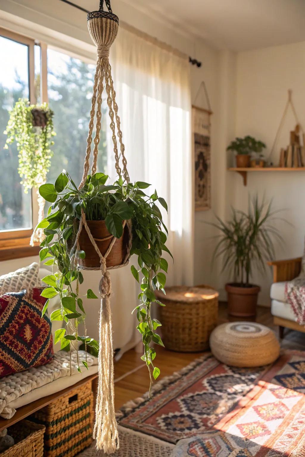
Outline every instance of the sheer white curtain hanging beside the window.
{"label": "sheer white curtain hanging beside the window", "polygon": [[[165,198],[161,208],[174,257],[167,284],[193,285],[193,165],[191,97],[187,59],[149,43],[132,32],[119,30],[110,51],[112,78],[125,144],[130,180],[151,184]],[[115,177],[109,133],[108,170]],[[137,264],[131,259],[130,264]],[[130,268],[111,271],[114,347],[128,348],[139,341],[135,317],[138,287]],[[89,330],[89,329],[88,329]],[[91,333],[88,334],[91,335]]]}

